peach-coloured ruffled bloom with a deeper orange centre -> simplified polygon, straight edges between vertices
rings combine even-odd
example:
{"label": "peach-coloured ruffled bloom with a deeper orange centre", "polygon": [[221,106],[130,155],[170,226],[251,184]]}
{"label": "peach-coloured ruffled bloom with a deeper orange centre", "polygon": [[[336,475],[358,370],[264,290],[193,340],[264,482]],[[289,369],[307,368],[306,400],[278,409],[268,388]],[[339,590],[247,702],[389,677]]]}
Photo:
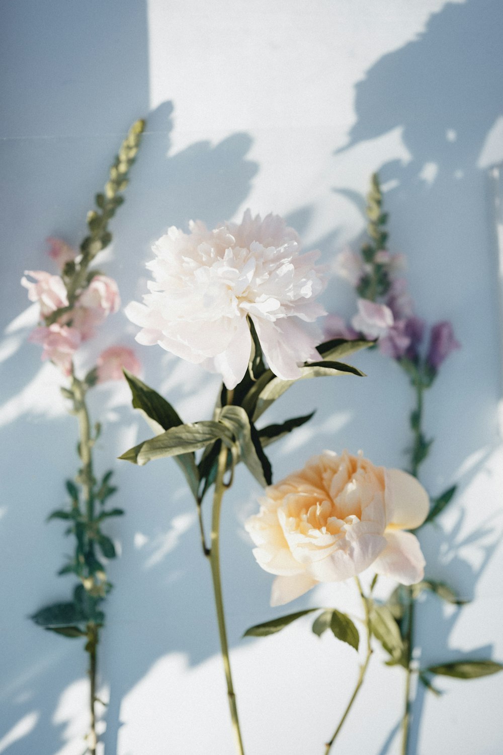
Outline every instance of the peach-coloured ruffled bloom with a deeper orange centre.
{"label": "peach-coloured ruffled bloom with a deeper orange centre", "polygon": [[265,488],[260,504],[245,528],[259,565],[278,575],[271,606],[370,566],[401,584],[423,577],[419,541],[403,530],[425,521],[429,498],[406,472],[375,467],[347,451],[324,451],[303,470]]}

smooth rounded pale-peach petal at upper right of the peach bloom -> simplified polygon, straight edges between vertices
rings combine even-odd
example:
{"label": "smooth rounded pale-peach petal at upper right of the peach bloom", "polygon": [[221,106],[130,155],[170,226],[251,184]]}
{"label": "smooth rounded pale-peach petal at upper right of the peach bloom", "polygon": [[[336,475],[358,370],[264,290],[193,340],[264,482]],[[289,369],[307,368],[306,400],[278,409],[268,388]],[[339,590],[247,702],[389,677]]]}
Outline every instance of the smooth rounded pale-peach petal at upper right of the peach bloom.
{"label": "smooth rounded pale-peach petal at upper right of the peach bloom", "polygon": [[425,521],[430,498],[421,483],[402,470],[385,470],[386,524],[391,529],[414,529]]}

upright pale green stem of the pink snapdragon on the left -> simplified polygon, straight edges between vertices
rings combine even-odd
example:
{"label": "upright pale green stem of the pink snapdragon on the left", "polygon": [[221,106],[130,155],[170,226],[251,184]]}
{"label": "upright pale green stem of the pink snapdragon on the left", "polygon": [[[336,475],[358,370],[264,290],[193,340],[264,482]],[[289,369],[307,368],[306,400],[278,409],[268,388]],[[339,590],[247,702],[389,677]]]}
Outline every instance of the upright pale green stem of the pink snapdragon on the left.
{"label": "upright pale green stem of the pink snapdragon on the left", "polygon": [[[94,521],[94,476],[93,476],[93,452],[90,430],[90,418],[85,402],[85,387],[76,377],[72,378],[72,392],[75,396],[75,412],[77,414],[79,442],[78,455],[81,458],[82,467],[79,473],[82,493],[84,496],[85,516],[88,523]],[[97,646],[99,633],[97,624],[90,621],[87,624],[87,643],[85,650],[89,655],[89,667],[87,673],[90,681],[90,726],[87,735],[87,749],[90,755],[96,755],[96,680],[97,680]]]}

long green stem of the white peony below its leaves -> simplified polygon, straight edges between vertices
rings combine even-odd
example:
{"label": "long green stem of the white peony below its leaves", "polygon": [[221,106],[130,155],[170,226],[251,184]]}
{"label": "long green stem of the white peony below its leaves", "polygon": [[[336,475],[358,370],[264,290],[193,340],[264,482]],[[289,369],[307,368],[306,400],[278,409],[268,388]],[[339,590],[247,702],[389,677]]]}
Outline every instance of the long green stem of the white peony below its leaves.
{"label": "long green stem of the white peony below its leaves", "polygon": [[218,621],[220,648],[222,650],[223,667],[225,670],[225,681],[227,683],[228,706],[231,713],[232,729],[235,735],[236,750],[239,755],[244,755],[243,741],[241,739],[241,729],[238,720],[238,707],[236,704],[236,695],[232,685],[231,664],[228,658],[227,632],[225,630],[225,615],[223,610],[222,597],[222,580],[220,577],[220,555],[219,555],[219,522],[220,509],[222,507],[222,498],[225,492],[225,467],[227,465],[227,447],[222,444],[219,453],[218,470],[216,473],[215,493],[213,495],[213,511],[211,517],[211,549],[210,549],[210,567],[213,578],[213,592],[215,593],[216,619]]}

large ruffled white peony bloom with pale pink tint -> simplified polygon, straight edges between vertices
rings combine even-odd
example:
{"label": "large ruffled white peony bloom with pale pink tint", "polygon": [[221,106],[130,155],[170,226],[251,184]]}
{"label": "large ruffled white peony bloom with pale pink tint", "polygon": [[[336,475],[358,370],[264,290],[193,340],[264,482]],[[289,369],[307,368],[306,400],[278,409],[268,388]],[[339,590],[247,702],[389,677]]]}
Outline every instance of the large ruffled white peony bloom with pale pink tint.
{"label": "large ruffled white peony bloom with pale pink tint", "polygon": [[298,362],[320,359],[319,252],[299,254],[299,237],[278,215],[262,220],[247,210],[239,225],[189,227],[189,234],[171,227],[152,247],[150,293],[125,310],[142,328],[136,341],[219,372],[232,389],[247,371],[250,318],[271,370],[299,377]]}

